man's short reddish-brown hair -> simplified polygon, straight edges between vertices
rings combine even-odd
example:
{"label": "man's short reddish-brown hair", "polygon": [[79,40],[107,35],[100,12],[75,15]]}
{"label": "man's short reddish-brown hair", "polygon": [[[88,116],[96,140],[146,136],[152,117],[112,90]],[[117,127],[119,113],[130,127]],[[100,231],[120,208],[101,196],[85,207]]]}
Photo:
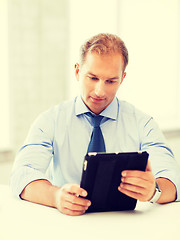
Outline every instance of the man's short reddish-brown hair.
{"label": "man's short reddish-brown hair", "polygon": [[88,53],[96,53],[99,55],[108,55],[119,53],[123,57],[124,69],[128,64],[128,50],[124,42],[114,34],[100,33],[88,39],[80,49],[80,63],[83,64]]}

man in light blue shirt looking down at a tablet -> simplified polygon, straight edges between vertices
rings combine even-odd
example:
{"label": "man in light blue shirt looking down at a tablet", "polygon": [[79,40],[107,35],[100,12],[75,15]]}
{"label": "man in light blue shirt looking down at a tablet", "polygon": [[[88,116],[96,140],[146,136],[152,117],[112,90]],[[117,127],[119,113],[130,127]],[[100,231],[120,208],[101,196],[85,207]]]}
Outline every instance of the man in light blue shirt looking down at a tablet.
{"label": "man in light blue shirt looking down at a tablet", "polygon": [[115,35],[99,34],[82,46],[75,65],[81,96],[41,114],[33,124],[11,177],[16,196],[68,215],[88,209],[91,202],[82,198],[87,192],[79,183],[93,128],[86,113],[91,112],[103,116],[106,152],[149,153],[146,171],[122,172],[118,190],[150,201],[158,183],[158,203],[179,200],[180,172],[161,131],[151,117],[115,97],[127,64],[128,51]]}

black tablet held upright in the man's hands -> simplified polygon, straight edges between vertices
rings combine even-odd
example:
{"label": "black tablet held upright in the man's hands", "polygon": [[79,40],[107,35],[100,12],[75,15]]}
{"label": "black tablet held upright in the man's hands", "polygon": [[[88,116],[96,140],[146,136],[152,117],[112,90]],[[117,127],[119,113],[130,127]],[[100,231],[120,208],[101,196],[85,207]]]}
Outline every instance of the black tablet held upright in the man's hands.
{"label": "black tablet held upright in the man's hands", "polygon": [[147,152],[88,153],[85,156],[80,186],[91,206],[86,212],[134,210],[137,200],[121,193],[123,170],[145,171]]}

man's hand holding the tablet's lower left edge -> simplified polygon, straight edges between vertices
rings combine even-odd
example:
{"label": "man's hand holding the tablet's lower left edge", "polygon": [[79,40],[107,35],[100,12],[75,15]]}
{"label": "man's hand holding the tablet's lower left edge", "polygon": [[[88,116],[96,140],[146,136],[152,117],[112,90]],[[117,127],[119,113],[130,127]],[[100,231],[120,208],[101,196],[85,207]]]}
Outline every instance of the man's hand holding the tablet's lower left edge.
{"label": "man's hand holding the tablet's lower left edge", "polygon": [[87,196],[87,192],[78,184],[65,184],[56,192],[56,208],[67,215],[82,215],[91,205],[91,202],[80,196]]}

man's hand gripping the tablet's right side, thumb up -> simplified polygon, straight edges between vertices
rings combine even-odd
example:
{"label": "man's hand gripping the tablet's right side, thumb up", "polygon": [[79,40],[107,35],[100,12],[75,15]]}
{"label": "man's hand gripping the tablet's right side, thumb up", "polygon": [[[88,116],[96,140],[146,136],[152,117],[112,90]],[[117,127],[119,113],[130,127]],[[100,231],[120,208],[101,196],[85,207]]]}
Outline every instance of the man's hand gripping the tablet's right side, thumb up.
{"label": "man's hand gripping the tablet's right side, thumb up", "polygon": [[118,190],[140,201],[149,201],[156,188],[155,178],[148,160],[146,171],[126,170],[122,172]]}

